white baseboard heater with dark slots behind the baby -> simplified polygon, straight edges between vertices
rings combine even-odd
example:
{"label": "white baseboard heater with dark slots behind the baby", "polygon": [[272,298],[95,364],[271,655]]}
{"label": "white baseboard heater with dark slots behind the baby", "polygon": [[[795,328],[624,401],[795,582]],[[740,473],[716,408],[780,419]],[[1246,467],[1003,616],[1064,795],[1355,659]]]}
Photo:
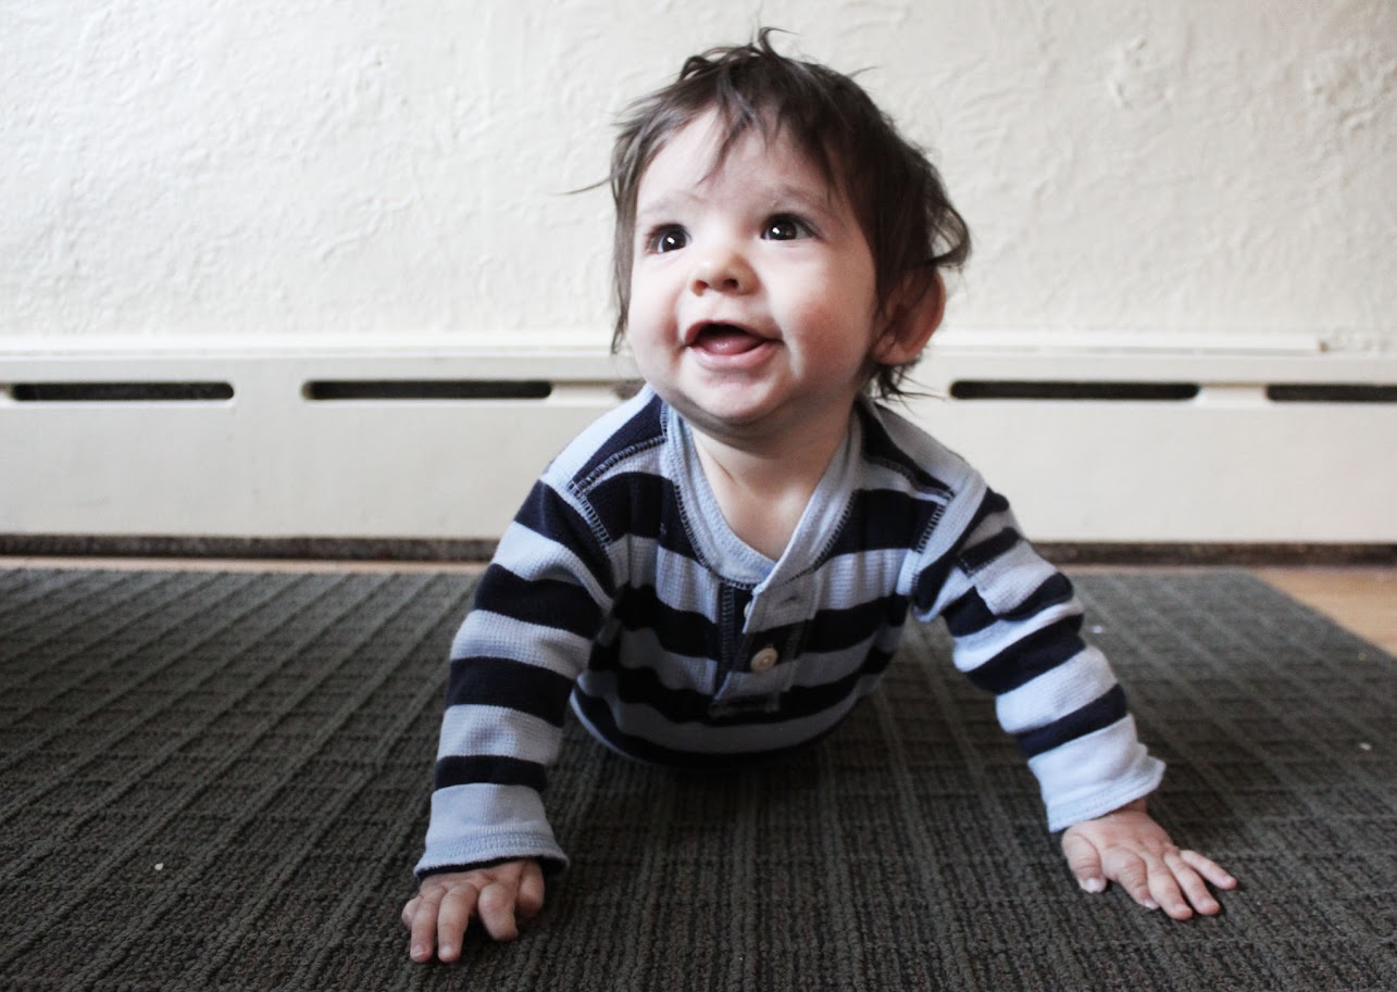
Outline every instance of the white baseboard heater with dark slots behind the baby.
{"label": "white baseboard heater with dark slots behind the baby", "polygon": [[[1397,543],[1397,354],[947,335],[915,420],[1056,543]],[[489,546],[602,350],[0,339],[0,536]],[[21,540],[22,544],[22,540]]]}

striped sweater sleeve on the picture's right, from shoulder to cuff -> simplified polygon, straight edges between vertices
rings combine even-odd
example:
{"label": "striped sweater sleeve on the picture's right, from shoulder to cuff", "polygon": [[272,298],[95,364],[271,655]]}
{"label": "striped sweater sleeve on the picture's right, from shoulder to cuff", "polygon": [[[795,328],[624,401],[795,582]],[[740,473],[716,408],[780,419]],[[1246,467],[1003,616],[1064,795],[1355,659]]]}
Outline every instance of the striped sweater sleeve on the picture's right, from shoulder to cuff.
{"label": "striped sweater sleeve on the picture's right, from shoulder to cuff", "polygon": [[1071,583],[1023,537],[1009,502],[981,493],[960,536],[921,571],[914,603],[923,619],[944,617],[956,667],[995,693],[1048,827],[1062,830],[1154,791],[1164,763],[1140,742],[1106,659],[1083,640]]}

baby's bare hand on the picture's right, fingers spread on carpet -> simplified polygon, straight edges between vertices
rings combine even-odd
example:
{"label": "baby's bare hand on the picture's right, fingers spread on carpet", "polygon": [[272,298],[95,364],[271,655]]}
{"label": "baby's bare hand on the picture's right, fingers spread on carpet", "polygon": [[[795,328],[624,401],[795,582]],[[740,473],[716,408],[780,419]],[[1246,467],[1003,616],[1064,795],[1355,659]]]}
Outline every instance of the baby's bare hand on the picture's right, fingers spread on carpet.
{"label": "baby's bare hand on the picture's right, fingers spread on carpet", "polygon": [[1173,919],[1189,919],[1194,910],[1204,917],[1222,911],[1208,882],[1236,887],[1236,879],[1215,861],[1180,851],[1146,812],[1144,799],[1067,827],[1062,852],[1084,890],[1102,892],[1108,880],[1118,882],[1140,905],[1162,907]]}

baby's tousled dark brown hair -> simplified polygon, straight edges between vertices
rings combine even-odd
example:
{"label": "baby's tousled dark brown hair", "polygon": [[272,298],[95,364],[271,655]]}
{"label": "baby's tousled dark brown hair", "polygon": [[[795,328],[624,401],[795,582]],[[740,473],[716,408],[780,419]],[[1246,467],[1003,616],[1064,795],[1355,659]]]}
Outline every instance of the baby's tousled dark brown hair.
{"label": "baby's tousled dark brown hair", "polygon": [[[773,28],[750,45],[692,56],[668,87],[631,105],[612,152],[616,201],[615,294],[619,349],[630,306],[636,195],[641,176],[676,133],[708,110],[724,126],[719,165],[750,130],[785,134],[854,206],[873,253],[880,313],[891,314],[904,287],[919,299],[944,292],[937,273],[970,257],[970,229],[951,206],[940,173],[854,80],[771,47]],[[905,300],[900,296],[898,301]],[[901,393],[907,366],[879,366],[870,389]]]}

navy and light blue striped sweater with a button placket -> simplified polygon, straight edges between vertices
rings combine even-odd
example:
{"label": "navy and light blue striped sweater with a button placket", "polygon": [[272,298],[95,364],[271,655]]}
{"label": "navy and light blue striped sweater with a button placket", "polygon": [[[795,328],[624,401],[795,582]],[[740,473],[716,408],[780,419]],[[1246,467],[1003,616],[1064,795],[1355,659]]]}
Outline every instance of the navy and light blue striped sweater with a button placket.
{"label": "navy and light blue striped sweater with a button placket", "polygon": [[569,703],[638,760],[768,760],[875,689],[909,617],[944,617],[1051,830],[1155,788],[1164,766],[1078,636],[1071,586],[961,458],[859,400],[773,562],[722,519],[685,421],[643,391],[549,466],[481,579],[451,649],[418,873],[566,864],[541,794]]}

